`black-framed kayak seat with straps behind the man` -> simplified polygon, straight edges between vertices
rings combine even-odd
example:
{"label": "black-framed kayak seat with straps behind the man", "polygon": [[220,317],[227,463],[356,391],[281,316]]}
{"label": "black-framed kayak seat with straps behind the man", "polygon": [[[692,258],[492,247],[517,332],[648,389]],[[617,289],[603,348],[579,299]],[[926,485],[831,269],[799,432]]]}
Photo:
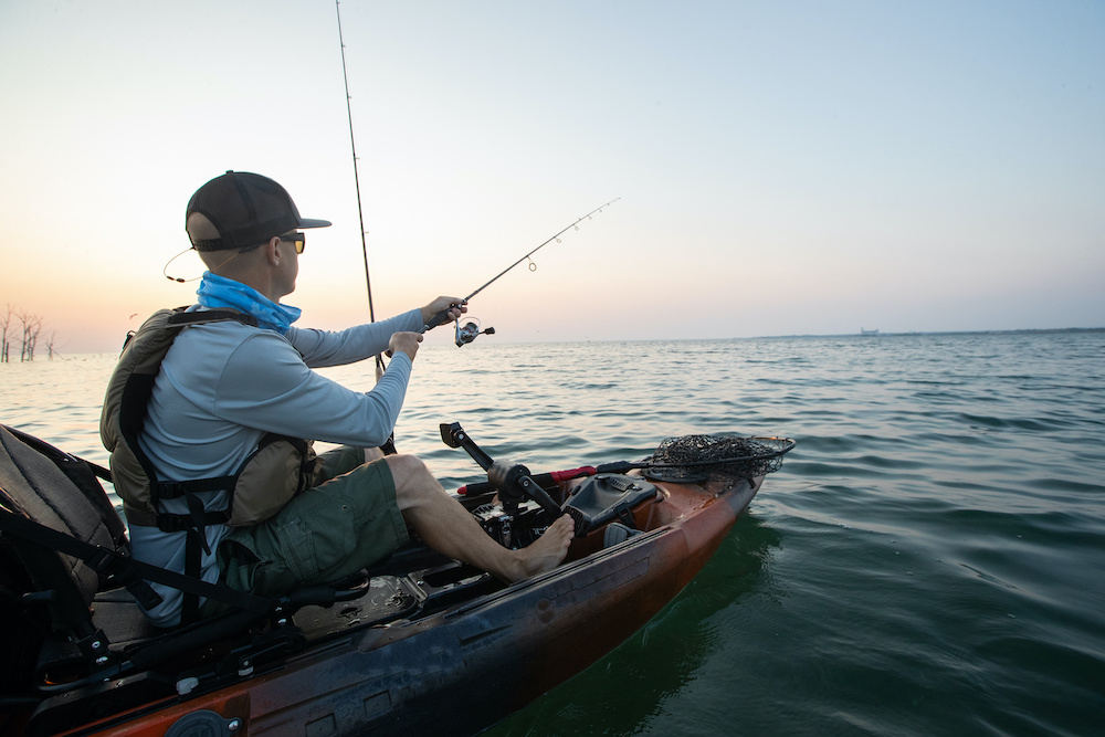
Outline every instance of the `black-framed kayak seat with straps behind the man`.
{"label": "black-framed kayak seat with straps behind the man", "polygon": [[[0,632],[9,643],[0,724],[4,704],[39,704],[28,734],[53,734],[171,696],[181,673],[217,677],[220,659],[278,660],[303,646],[292,614],[368,590],[315,587],[162,630],[137,603],[154,594],[130,560],[126,528],[91,464],[0,425]],[[231,654],[215,645],[223,642],[234,643]]]}

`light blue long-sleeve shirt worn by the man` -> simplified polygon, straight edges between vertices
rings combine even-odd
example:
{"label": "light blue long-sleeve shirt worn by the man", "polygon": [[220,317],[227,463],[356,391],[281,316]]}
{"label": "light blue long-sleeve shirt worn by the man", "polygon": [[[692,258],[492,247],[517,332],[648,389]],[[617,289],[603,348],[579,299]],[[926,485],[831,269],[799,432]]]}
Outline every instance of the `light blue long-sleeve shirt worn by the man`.
{"label": "light blue long-sleeve shirt worn by the man", "polygon": [[[231,475],[267,432],[380,445],[399,418],[411,359],[397,352],[368,393],[346,389],[312,369],[364,360],[386,350],[393,333],[421,328],[418,309],[339,333],[293,327],[281,336],[236,322],[187,327],[161,362],[139,442],[159,481]],[[225,492],[204,496],[207,508],[225,507]],[[182,498],[162,506],[187,514]],[[229,531],[225,525],[206,528],[211,549],[202,560],[207,581],[219,577],[214,552]],[[138,560],[183,572],[183,533],[134,526],[130,543]],[[165,601],[147,612],[149,619],[160,627],[178,624],[181,592],[152,587]]]}

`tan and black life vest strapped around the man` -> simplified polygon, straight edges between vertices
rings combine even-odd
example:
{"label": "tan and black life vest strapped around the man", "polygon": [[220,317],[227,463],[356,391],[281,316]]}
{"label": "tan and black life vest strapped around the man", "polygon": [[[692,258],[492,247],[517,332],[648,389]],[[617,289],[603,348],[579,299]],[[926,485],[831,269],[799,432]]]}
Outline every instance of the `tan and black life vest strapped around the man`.
{"label": "tan and black life vest strapped around the man", "polygon": [[[160,309],[123,345],[119,362],[112,375],[101,415],[99,434],[112,454],[112,483],[123,498],[130,525],[157,527],[164,531],[200,531],[206,525],[255,525],[276,514],[293,496],[314,485],[322,464],[315,462],[312,442],[269,433],[257,449],[231,476],[187,481],[160,481],[152,463],[138,444],[154,391],[154,381],[172,341],[193,325],[236,320],[256,326],[256,319],[232,309],[185,312],[186,307]],[[196,496],[227,491],[223,509],[204,509]],[[189,514],[169,514],[166,499],[185,497]]]}

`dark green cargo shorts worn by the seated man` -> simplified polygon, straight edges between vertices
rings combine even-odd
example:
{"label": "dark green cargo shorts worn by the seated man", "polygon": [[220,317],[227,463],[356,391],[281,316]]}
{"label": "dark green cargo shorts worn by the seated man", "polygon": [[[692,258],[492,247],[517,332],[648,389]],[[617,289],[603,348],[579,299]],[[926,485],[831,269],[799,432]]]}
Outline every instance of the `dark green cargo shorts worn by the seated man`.
{"label": "dark green cargo shorts worn by the seated man", "polygon": [[[364,451],[324,453],[323,483],[295,496],[259,525],[235,527],[219,546],[222,580],[239,591],[276,597],[349,578],[410,539],[386,461]],[[227,607],[208,600],[211,617]]]}

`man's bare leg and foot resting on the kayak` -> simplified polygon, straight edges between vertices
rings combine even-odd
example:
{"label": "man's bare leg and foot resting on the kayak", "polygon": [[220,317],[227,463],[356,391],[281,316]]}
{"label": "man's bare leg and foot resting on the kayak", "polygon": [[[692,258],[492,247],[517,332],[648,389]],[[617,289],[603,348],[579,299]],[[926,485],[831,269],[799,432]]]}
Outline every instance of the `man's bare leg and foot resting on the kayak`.
{"label": "man's bare leg and foot resting on the kayak", "polygon": [[565,515],[532,545],[509,550],[445,493],[425,464],[413,455],[389,455],[396,499],[403,518],[431,548],[514,582],[556,568],[568,555],[573,525]]}

